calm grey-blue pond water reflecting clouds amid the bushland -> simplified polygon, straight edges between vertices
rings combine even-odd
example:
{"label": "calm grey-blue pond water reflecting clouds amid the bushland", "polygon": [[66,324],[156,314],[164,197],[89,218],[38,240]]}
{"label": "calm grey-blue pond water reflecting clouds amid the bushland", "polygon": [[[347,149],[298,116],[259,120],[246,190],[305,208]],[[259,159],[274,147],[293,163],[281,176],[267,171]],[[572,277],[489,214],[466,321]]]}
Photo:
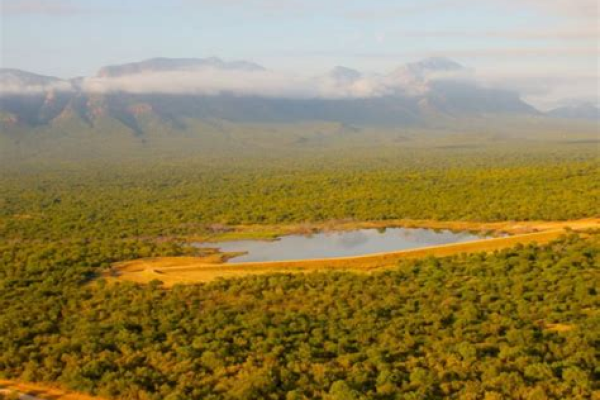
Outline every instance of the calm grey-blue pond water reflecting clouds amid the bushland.
{"label": "calm grey-blue pond water reflecting clouds amid the bushland", "polygon": [[388,228],[283,236],[276,241],[239,240],[199,243],[223,252],[247,252],[229,263],[350,257],[481,239],[468,232]]}

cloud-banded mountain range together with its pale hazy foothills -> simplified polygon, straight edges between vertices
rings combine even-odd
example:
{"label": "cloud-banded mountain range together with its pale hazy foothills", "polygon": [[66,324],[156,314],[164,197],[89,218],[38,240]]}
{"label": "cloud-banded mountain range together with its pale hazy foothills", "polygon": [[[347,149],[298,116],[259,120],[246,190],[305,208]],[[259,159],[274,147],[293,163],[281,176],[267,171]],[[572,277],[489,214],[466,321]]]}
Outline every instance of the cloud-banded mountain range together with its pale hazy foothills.
{"label": "cloud-banded mountain range together with its pale hazy foothills", "polygon": [[[312,77],[218,58],[155,58],[73,79],[0,69],[5,159],[140,145],[179,152],[397,143],[409,131],[418,137],[433,130],[516,135],[559,126],[554,132],[563,135],[574,125],[597,132],[598,120],[593,105],[542,113],[518,93],[481,84],[471,70],[445,58],[388,74],[338,66]],[[377,137],[381,132],[387,136]]]}

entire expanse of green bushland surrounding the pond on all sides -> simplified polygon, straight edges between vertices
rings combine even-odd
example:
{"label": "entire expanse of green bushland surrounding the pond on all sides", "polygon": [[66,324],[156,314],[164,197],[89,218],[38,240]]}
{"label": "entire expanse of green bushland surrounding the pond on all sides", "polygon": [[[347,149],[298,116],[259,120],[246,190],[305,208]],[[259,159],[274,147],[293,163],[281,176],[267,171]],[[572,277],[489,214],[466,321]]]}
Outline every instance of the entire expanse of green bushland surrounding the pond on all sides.
{"label": "entire expanse of green bushland surrounding the pond on all sides", "polygon": [[372,275],[100,278],[194,254],[213,224],[597,217],[593,149],[40,163],[0,187],[0,378],[131,400],[599,395],[597,234]]}

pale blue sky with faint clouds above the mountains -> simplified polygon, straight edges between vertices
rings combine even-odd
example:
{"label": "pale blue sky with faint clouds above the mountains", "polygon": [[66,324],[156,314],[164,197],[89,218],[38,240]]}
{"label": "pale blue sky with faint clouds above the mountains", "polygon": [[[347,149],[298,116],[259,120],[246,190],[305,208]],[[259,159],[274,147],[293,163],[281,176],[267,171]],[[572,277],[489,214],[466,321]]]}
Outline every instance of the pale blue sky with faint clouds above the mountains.
{"label": "pale blue sky with faint clouds above the mountains", "polygon": [[62,78],[151,57],[319,74],[451,58],[542,109],[598,103],[597,0],[0,0],[0,66]]}

